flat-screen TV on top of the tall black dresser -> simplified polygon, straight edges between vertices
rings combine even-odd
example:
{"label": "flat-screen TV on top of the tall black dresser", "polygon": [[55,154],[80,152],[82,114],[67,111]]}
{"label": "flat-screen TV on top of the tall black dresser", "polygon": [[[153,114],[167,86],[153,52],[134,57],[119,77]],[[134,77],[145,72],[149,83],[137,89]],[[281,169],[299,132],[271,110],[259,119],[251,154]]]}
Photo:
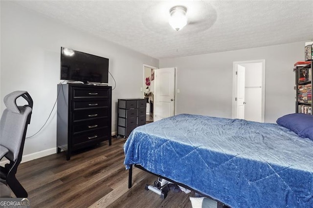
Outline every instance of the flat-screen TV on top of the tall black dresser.
{"label": "flat-screen TV on top of the tall black dresser", "polygon": [[109,59],[61,47],[61,80],[108,83]]}

